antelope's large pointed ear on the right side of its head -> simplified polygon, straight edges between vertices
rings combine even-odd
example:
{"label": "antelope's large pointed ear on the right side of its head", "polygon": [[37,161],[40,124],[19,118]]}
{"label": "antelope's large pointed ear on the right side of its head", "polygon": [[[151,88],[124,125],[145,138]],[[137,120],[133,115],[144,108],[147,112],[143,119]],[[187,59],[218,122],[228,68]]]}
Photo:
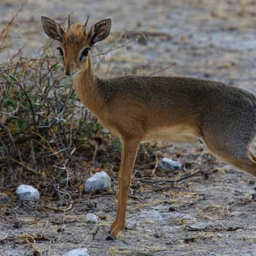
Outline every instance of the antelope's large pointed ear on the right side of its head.
{"label": "antelope's large pointed ear on the right side of its head", "polygon": [[100,20],[94,24],[88,33],[90,45],[100,42],[108,37],[111,28],[111,19]]}

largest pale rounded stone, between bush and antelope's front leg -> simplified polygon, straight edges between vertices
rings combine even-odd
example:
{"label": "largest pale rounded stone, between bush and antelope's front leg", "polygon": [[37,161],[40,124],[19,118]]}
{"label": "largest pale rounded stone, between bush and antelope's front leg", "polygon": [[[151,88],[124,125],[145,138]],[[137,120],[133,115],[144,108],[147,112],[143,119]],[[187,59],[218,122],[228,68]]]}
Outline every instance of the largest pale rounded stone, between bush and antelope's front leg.
{"label": "largest pale rounded stone, between bush and antelope's front leg", "polygon": [[111,188],[111,179],[106,172],[97,172],[84,184],[85,193],[108,191]]}

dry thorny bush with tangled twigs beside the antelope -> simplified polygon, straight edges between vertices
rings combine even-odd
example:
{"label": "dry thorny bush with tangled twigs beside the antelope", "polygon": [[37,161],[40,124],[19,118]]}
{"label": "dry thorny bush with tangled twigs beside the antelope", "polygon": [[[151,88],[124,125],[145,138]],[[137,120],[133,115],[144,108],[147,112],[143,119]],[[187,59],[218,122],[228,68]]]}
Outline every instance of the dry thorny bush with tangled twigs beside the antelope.
{"label": "dry thorny bush with tangled twigs beside the antelope", "polygon": [[[1,32],[2,51],[17,13]],[[77,100],[51,47],[39,58],[26,58],[19,50],[0,63],[1,186],[47,176],[67,186],[68,170],[81,162],[79,150],[87,148],[83,159],[92,159],[90,139],[95,141],[101,129]]]}

